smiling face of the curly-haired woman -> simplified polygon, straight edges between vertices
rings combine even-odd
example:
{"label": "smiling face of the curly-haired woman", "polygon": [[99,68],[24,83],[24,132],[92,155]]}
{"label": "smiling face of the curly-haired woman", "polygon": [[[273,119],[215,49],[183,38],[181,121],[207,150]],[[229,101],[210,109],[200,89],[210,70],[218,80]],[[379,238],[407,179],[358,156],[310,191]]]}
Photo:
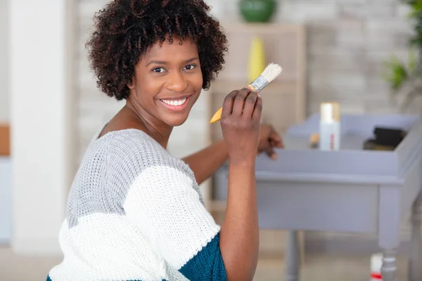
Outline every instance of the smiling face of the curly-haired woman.
{"label": "smiling face of the curly-haired woman", "polygon": [[179,126],[188,118],[202,85],[196,44],[190,39],[181,45],[178,39],[173,44],[166,40],[141,56],[129,85],[129,98],[141,107],[148,121]]}

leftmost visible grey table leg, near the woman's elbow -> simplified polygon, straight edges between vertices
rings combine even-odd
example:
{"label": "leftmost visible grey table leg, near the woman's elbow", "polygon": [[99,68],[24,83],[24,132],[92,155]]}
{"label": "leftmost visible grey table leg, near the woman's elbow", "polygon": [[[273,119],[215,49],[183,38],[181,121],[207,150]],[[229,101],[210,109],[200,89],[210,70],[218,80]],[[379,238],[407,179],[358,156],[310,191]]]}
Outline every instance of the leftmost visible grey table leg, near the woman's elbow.
{"label": "leftmost visible grey table leg, near the woman's elbow", "polygon": [[300,247],[299,233],[296,230],[288,232],[286,249],[286,281],[299,281]]}

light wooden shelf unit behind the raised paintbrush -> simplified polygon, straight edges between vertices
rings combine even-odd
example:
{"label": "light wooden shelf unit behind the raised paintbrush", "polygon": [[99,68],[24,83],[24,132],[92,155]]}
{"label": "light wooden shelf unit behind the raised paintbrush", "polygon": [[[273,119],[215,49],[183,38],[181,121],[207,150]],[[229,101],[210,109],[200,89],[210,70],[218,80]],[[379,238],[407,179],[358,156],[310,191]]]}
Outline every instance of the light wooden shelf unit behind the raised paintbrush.
{"label": "light wooden shelf unit behind the raised paintbrush", "polygon": [[[262,122],[275,126],[279,133],[306,118],[306,34],[304,25],[294,24],[222,24],[229,41],[224,70],[207,91],[210,118],[222,106],[224,97],[235,89],[247,86],[250,41],[260,37],[264,43],[267,63],[279,63],[282,74],[262,91],[264,101]],[[222,138],[219,123],[210,125],[211,141]],[[215,187],[215,181],[213,186]],[[213,188],[215,191],[215,188]],[[216,195],[210,212],[222,223],[226,198]],[[282,256],[286,251],[286,231],[260,230],[260,254]],[[300,233],[300,251],[304,253],[304,233]]]}

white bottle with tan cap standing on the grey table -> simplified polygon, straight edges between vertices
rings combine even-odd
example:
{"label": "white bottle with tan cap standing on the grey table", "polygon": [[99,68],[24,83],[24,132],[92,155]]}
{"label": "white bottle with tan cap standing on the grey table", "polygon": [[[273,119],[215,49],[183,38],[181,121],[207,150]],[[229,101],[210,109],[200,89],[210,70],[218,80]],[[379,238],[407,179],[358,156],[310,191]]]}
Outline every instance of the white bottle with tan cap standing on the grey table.
{"label": "white bottle with tan cap standing on the grey table", "polygon": [[340,105],[321,103],[319,122],[319,149],[340,149]]}

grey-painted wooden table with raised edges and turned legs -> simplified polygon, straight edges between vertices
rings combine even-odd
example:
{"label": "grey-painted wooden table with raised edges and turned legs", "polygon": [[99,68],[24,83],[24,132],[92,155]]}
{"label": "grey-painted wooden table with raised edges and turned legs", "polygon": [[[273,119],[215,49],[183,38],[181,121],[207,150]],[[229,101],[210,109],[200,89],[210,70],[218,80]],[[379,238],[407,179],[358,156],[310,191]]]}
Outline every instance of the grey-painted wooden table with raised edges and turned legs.
{"label": "grey-painted wooden table with raised edges and turned legs", "polygon": [[[363,150],[375,126],[409,131],[395,151]],[[290,230],[286,280],[299,280],[298,230],[369,233],[383,251],[383,281],[396,281],[400,226],[412,210],[409,281],[422,280],[422,121],[402,115],[342,115],[341,145],[313,150],[319,115],[292,126],[274,161],[257,157],[260,228]],[[226,198],[227,166],[216,174],[216,197]]]}

